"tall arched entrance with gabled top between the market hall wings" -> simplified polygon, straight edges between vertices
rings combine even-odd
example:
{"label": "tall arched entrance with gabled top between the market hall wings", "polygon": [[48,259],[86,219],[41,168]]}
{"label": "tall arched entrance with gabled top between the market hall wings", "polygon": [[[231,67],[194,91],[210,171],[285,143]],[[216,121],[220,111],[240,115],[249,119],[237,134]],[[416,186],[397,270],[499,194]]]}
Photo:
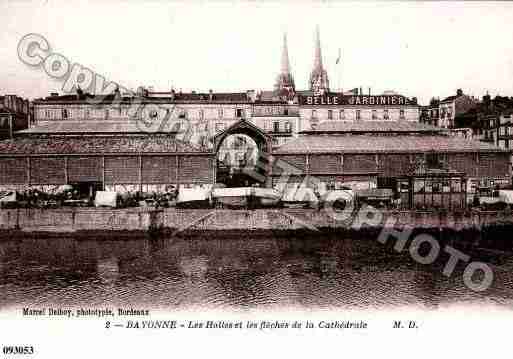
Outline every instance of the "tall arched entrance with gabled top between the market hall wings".
{"label": "tall arched entrance with gabled top between the market hall wings", "polygon": [[272,139],[241,120],[214,137],[215,182],[227,187],[270,186]]}

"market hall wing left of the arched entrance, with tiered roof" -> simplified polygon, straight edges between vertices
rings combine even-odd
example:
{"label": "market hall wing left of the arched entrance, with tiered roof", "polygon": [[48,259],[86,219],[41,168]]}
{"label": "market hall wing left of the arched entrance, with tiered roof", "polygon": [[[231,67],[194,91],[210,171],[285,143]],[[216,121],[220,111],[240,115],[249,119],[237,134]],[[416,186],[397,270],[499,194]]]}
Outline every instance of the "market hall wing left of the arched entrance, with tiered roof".
{"label": "market hall wing left of the arched entrance, with tiered roof", "polygon": [[213,168],[211,151],[172,129],[149,134],[133,122],[52,123],[0,142],[0,184],[11,190],[73,184],[91,195],[166,192],[171,185],[211,184]]}

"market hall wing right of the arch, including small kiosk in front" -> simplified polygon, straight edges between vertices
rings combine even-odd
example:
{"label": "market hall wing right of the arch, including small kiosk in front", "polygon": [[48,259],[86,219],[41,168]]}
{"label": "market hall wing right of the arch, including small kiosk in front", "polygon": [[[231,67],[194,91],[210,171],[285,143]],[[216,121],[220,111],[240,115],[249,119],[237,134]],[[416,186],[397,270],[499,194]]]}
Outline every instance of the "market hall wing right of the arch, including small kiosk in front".
{"label": "market hall wing right of the arch, including small kiosk in front", "polygon": [[386,188],[406,208],[463,208],[481,186],[511,185],[508,151],[411,122],[325,121],[273,158],[287,164],[273,168],[275,186],[286,176],[310,187]]}

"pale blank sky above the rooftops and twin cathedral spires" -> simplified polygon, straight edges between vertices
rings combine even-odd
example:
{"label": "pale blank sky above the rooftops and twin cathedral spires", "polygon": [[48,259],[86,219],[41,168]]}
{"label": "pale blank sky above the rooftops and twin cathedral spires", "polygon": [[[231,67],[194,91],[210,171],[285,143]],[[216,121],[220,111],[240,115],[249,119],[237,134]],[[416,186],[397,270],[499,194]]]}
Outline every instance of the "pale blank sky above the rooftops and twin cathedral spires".
{"label": "pale blank sky above the rooftops and twin cathedral spires", "polygon": [[458,88],[513,96],[511,2],[136,0],[1,0],[0,94],[62,93],[62,81],[18,59],[28,33],[130,89],[206,92],[272,89],[286,32],[296,89],[307,89],[317,25],[332,89],[422,104]]}

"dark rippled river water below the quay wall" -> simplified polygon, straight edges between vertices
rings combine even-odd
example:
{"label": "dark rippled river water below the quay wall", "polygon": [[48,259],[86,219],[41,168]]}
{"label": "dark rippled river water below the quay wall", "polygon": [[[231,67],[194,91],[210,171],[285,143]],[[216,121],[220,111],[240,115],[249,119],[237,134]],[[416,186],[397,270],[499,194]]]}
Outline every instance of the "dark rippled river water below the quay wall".
{"label": "dark rippled river water below the quay wall", "polygon": [[513,305],[513,256],[473,250],[494,282],[468,289],[464,266],[416,263],[373,238],[23,239],[0,242],[0,308],[437,308]]}

